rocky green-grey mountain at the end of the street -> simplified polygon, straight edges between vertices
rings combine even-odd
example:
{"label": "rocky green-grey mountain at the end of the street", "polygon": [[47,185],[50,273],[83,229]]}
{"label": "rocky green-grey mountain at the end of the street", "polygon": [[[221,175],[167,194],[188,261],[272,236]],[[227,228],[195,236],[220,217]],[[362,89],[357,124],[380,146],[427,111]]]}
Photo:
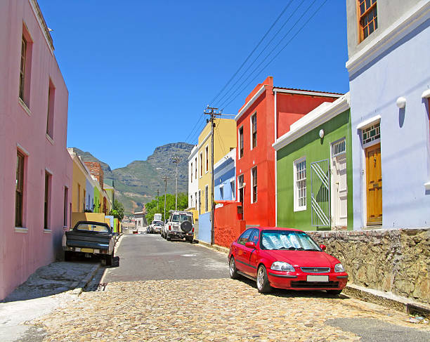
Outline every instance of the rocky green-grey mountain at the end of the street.
{"label": "rocky green-grey mountain at the end of the street", "polygon": [[176,164],[173,157],[179,157],[178,163],[178,192],[188,192],[188,156],[194,145],[188,143],[170,143],[156,147],[146,160],[135,160],[127,166],[111,169],[108,164],[101,162],[90,152],[84,152],[73,147],[84,162],[99,162],[105,179],[115,182],[115,196],[124,204],[126,213],[140,211],[143,204],[152,201],[159,195],[164,195],[163,176],[167,176],[167,193],[174,194],[176,186]]}

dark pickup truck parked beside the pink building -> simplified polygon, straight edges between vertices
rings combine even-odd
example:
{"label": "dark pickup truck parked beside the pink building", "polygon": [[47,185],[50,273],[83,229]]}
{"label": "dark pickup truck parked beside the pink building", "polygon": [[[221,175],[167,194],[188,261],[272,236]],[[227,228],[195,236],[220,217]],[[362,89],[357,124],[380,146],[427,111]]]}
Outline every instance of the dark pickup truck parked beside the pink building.
{"label": "dark pickup truck parked beside the pink building", "polygon": [[73,255],[98,255],[106,260],[106,265],[112,265],[115,242],[112,229],[107,223],[79,221],[72,230],[63,235],[63,251],[65,261],[70,261]]}

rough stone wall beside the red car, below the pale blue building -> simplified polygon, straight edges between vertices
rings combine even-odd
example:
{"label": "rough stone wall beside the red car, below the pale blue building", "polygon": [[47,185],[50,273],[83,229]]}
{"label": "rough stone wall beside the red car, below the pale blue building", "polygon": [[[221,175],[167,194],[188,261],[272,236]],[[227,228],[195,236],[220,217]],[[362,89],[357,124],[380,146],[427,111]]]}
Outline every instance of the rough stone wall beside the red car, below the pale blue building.
{"label": "rough stone wall beside the red car, below the pale blue building", "polygon": [[430,228],[308,232],[348,281],[430,304]]}

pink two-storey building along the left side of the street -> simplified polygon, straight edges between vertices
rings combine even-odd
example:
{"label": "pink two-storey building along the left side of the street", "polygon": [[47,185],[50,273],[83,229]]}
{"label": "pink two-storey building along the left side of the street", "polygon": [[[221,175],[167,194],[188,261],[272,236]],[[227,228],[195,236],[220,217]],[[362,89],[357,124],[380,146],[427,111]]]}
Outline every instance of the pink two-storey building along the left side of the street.
{"label": "pink two-storey building along the left side of the street", "polygon": [[0,299],[61,256],[68,91],[36,0],[0,1]]}

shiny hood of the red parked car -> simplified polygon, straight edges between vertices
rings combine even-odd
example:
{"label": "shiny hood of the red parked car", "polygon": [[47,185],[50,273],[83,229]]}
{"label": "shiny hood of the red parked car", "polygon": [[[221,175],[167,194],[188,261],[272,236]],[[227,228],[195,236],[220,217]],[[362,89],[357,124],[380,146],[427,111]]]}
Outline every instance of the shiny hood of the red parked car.
{"label": "shiny hood of the red parked car", "polygon": [[285,261],[296,267],[331,267],[339,263],[337,258],[323,251],[273,251],[265,250],[276,261]]}

